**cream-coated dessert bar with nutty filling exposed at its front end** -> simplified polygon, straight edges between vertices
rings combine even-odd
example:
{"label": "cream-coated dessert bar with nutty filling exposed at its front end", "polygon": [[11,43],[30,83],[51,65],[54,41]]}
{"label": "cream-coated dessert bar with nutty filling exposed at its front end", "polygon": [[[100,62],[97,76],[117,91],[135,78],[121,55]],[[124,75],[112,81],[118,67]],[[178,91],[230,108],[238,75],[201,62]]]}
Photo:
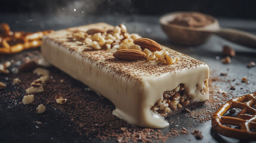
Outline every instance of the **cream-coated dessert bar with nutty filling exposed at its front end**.
{"label": "cream-coated dessert bar with nutty filling exposed at its front end", "polygon": [[[205,63],[162,45],[162,50],[179,61],[119,60],[113,53],[125,46],[118,42],[136,39],[124,32],[122,26],[116,30],[106,23],[59,30],[44,36],[41,52],[55,67],[112,101],[113,114],[131,125],[165,128],[169,126],[166,116],[208,100],[209,67]],[[74,33],[84,33],[84,39]]]}

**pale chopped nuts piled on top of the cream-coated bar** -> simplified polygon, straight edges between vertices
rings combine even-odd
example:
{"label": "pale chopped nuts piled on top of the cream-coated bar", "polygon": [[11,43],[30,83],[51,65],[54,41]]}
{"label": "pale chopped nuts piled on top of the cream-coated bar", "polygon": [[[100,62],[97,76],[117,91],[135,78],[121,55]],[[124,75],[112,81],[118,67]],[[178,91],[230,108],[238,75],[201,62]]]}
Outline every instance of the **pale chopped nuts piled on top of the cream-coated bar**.
{"label": "pale chopped nuts piled on top of the cream-coated bar", "polygon": [[[175,61],[179,61],[180,58],[175,57],[174,55],[170,54],[167,51],[161,51],[162,46],[159,43],[156,43],[152,39],[141,38],[141,36],[137,34],[129,34],[127,32],[127,27],[124,24],[120,24],[116,26],[112,30],[107,30],[107,32],[103,32],[100,29],[90,29],[87,31],[88,35],[85,32],[75,32],[73,33],[73,37],[80,42],[83,42],[85,46],[90,46],[96,50],[100,49],[110,49],[110,48],[117,48],[117,49],[138,49],[147,55],[147,61],[155,60],[161,61],[165,64],[173,64]],[[135,44],[136,41],[142,41],[140,39],[146,39],[149,41],[147,44],[141,43],[143,49],[141,49],[140,45]],[[151,41],[151,42],[150,42]],[[152,43],[153,41],[153,43]],[[152,46],[145,45],[157,45],[158,47],[152,48]],[[151,49],[150,49],[151,48]],[[154,50],[153,50],[154,49]],[[158,49],[158,50],[156,50]],[[150,51],[150,52],[149,52]],[[153,52],[152,52],[153,51]],[[154,52],[156,51],[156,52]],[[159,51],[159,52],[158,52]]]}

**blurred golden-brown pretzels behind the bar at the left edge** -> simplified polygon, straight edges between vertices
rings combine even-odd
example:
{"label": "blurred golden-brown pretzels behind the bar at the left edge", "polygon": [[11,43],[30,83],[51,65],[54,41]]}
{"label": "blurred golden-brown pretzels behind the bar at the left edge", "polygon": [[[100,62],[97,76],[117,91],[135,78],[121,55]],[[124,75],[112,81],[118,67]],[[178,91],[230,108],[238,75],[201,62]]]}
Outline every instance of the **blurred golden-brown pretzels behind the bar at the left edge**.
{"label": "blurred golden-brown pretzels behind the bar at the left edge", "polygon": [[41,46],[42,37],[53,30],[42,32],[11,32],[6,23],[0,24],[0,54],[14,54],[23,49]]}

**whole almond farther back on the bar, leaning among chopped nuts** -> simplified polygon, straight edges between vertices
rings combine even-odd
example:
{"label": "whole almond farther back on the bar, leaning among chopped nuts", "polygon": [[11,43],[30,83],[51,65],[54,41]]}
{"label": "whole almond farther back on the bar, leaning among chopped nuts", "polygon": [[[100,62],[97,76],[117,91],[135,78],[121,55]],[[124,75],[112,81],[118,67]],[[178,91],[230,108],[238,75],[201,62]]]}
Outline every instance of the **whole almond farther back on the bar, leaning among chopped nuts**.
{"label": "whole almond farther back on the bar, leaning among chopped nuts", "polygon": [[140,45],[141,49],[149,49],[152,52],[155,51],[161,51],[162,47],[159,43],[156,41],[153,41],[152,39],[149,38],[138,38],[133,41],[136,45]]}

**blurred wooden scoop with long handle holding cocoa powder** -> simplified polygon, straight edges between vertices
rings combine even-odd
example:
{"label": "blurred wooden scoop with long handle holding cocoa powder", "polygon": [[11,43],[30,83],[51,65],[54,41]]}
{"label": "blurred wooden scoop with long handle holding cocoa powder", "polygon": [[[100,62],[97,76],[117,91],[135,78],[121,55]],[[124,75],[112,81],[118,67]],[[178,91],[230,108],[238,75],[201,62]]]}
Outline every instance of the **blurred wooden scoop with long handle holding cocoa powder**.
{"label": "blurred wooden scoop with long handle holding cocoa powder", "polygon": [[185,46],[199,45],[201,43],[206,42],[212,34],[215,34],[221,36],[224,39],[227,39],[228,41],[232,41],[243,46],[256,48],[255,35],[243,32],[241,30],[222,28],[218,24],[218,20],[215,17],[212,17],[211,15],[203,14],[207,17],[211,17],[214,20],[212,24],[208,24],[204,27],[189,27],[169,23],[169,21],[174,20],[174,18],[178,14],[190,13],[196,12],[181,11],[175,13],[168,13],[160,18],[162,29],[164,30],[166,35],[168,35],[171,42]]}

